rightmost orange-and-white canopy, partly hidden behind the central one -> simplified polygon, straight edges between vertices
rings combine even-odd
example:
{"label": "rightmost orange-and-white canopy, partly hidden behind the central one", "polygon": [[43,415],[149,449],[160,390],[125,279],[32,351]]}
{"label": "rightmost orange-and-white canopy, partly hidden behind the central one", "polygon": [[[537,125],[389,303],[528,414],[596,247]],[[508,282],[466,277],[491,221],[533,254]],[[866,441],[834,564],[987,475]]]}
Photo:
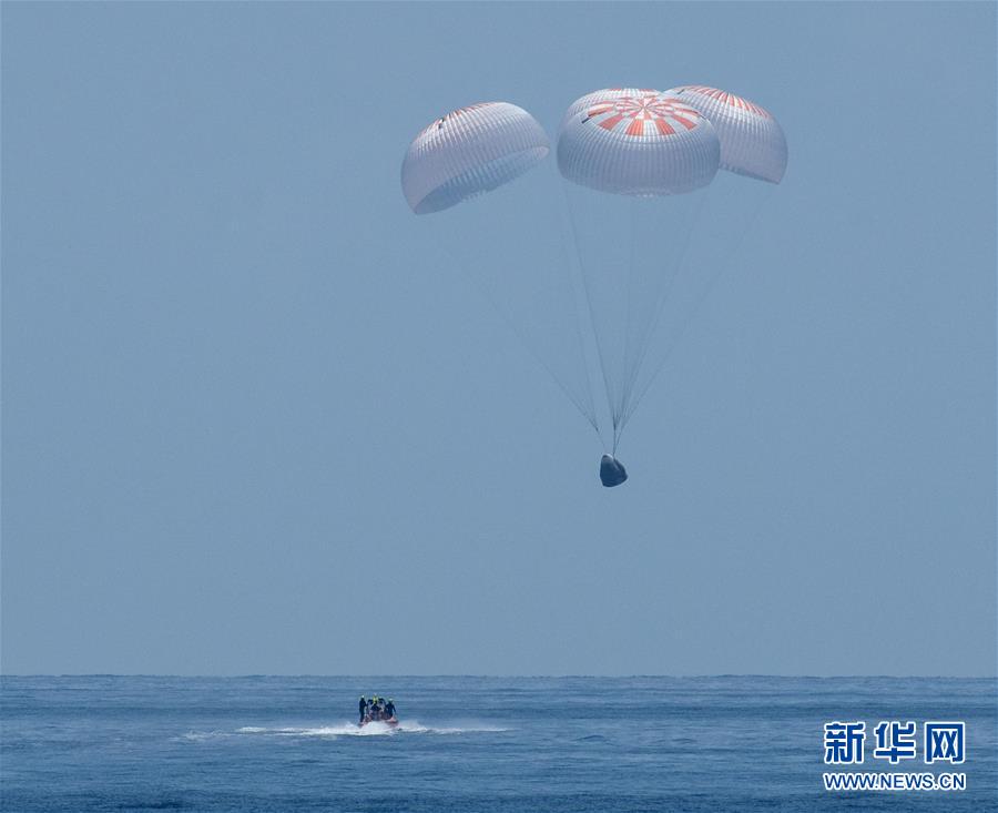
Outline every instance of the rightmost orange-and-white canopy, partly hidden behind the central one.
{"label": "rightmost orange-and-white canopy, partly hidden behind the central one", "polygon": [[786,139],[772,113],[747,99],[702,84],[666,93],[710,119],[721,139],[721,169],[780,183],[786,171]]}

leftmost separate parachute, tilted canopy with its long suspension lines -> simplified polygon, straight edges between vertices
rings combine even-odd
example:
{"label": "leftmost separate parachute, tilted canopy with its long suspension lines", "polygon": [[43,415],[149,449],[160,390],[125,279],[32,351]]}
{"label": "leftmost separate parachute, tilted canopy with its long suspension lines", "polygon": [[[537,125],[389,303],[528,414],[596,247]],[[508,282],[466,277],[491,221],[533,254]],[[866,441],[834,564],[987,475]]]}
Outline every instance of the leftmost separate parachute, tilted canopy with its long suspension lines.
{"label": "leftmost separate parachute, tilted canopy with its long suspension lines", "polygon": [[449,265],[475,283],[595,429],[581,325],[558,238],[560,213],[525,205],[551,199],[550,172],[539,172],[549,152],[543,128],[522,108],[460,108],[413,140],[401,166],[403,194],[413,212],[430,215],[428,226]]}

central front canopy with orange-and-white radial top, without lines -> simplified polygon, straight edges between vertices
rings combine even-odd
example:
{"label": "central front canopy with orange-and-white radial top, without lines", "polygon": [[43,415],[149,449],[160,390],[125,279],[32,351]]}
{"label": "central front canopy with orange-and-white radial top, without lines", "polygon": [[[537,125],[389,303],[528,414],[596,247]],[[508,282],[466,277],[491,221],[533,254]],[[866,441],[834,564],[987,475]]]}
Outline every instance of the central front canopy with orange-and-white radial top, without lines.
{"label": "central front canopy with orange-and-white radial top, without lines", "polygon": [[588,93],[569,106],[558,138],[558,169],[568,181],[622,195],[706,186],[720,157],[710,121],[659,91]]}

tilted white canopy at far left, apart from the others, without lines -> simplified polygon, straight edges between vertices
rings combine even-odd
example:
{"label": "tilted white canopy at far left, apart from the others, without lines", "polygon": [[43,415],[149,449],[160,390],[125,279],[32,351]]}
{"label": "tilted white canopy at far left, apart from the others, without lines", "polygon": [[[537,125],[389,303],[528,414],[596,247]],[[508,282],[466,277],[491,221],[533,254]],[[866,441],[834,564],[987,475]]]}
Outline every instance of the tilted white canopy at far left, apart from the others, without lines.
{"label": "tilted white canopy at far left, apart from the others, without lines", "polygon": [[522,108],[485,102],[437,119],[409,144],[403,193],[428,214],[498,189],[550,152],[543,128]]}

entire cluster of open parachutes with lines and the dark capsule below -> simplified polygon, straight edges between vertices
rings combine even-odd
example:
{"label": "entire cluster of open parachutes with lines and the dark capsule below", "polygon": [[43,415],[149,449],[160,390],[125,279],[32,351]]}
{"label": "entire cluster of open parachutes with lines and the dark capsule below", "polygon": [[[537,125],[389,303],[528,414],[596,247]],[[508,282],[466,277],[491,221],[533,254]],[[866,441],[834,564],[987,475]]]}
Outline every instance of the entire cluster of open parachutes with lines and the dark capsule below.
{"label": "entire cluster of open parachutes with lines and the dark capsule below", "polygon": [[[401,186],[416,214],[446,211],[444,250],[467,253],[457,265],[482,272],[488,298],[600,436],[600,479],[613,487],[628,478],[624,426],[751,222],[754,190],[707,205],[719,171],[724,185],[775,185],[786,141],[771,113],[725,91],[610,88],[562,115],[557,174],[543,171],[550,150],[522,108],[472,104],[414,139]],[[525,205],[557,197],[561,224]],[[460,205],[478,199],[488,216]]]}

